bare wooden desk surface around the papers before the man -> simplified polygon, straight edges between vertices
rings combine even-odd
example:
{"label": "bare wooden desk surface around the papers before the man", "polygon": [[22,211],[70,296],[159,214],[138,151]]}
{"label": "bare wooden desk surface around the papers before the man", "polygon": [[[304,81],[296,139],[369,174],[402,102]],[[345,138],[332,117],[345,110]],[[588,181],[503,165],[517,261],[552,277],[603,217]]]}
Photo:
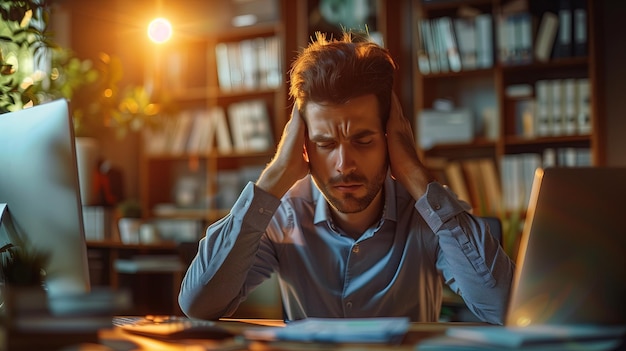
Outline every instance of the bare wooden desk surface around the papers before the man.
{"label": "bare wooden desk surface around the papers before the man", "polygon": [[[467,325],[468,323],[412,323],[402,344],[321,344],[297,342],[260,342],[246,341],[241,338],[227,341],[214,340],[182,340],[161,341],[144,336],[132,335],[120,329],[103,330],[100,340],[110,350],[115,351],[191,351],[191,350],[250,350],[250,351],[298,351],[298,350],[396,350],[413,351],[415,345],[428,337],[440,335],[450,326]],[[241,334],[244,329],[266,326],[283,326],[283,321],[266,319],[222,319],[218,325]],[[101,351],[94,349],[94,351]],[[108,351],[108,350],[107,350]]]}

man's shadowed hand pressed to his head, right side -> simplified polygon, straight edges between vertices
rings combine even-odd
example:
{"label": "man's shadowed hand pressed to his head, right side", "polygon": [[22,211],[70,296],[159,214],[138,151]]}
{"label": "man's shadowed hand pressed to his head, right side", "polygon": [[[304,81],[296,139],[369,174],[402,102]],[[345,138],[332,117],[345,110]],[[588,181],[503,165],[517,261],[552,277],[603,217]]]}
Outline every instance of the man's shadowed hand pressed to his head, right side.
{"label": "man's shadowed hand pressed to his head, right side", "polygon": [[402,114],[395,93],[391,96],[391,111],[387,121],[387,150],[391,175],[417,200],[426,192],[426,186],[433,178],[417,156],[411,123]]}

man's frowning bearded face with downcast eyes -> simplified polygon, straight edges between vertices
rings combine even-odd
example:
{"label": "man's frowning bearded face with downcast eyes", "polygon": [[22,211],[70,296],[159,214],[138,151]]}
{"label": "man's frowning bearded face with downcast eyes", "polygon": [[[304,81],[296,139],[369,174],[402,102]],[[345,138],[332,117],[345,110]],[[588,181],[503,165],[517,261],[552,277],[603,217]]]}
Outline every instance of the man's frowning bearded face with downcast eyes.
{"label": "man's frowning bearded face with downcast eyes", "polygon": [[383,186],[387,139],[373,94],[345,104],[309,102],[304,111],[311,175],[339,212],[366,209]]}

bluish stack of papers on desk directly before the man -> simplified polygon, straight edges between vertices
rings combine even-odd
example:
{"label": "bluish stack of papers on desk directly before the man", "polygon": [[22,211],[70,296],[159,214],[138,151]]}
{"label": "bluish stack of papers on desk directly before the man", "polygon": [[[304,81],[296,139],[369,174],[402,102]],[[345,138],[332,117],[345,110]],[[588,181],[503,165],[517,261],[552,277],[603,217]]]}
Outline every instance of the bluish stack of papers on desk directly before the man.
{"label": "bluish stack of papers on desk directly before the man", "polygon": [[285,327],[253,328],[243,332],[250,340],[329,343],[395,343],[409,328],[404,317],[307,318]]}

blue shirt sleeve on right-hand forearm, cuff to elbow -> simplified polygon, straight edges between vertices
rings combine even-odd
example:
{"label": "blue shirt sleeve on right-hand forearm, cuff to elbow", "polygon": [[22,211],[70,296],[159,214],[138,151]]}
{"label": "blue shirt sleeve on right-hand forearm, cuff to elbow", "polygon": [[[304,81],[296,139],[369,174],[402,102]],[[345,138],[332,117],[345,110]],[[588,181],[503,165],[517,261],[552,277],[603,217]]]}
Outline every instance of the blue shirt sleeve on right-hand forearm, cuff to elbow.
{"label": "blue shirt sleeve on right-hand forearm, cuff to elbow", "polygon": [[485,322],[503,324],[514,265],[486,221],[433,182],[415,204],[438,238],[437,268],[444,281]]}

